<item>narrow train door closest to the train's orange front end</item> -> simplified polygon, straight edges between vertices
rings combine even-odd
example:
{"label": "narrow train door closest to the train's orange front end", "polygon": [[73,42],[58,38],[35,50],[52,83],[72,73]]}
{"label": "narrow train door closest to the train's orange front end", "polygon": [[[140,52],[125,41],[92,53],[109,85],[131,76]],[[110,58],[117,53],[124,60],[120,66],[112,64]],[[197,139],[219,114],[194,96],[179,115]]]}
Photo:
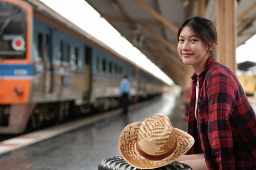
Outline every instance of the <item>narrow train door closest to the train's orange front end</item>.
{"label": "narrow train door closest to the train's orange front end", "polygon": [[47,71],[45,75],[45,93],[50,94],[53,91],[53,43],[52,38],[53,32],[52,29],[49,29],[48,34],[46,34],[46,63]]}

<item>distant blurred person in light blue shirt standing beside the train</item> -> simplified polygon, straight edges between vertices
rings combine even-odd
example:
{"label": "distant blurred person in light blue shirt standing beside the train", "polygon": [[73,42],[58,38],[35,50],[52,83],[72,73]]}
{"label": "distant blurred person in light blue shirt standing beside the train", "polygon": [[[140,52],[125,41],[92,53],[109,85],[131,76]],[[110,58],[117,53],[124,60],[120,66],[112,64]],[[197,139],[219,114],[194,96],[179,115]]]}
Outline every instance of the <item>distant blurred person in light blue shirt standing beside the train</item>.
{"label": "distant blurred person in light blue shirt standing beside the train", "polygon": [[127,115],[129,99],[131,99],[131,91],[130,91],[131,83],[128,80],[128,76],[125,75],[122,81],[120,82],[120,106],[123,110],[123,113]]}

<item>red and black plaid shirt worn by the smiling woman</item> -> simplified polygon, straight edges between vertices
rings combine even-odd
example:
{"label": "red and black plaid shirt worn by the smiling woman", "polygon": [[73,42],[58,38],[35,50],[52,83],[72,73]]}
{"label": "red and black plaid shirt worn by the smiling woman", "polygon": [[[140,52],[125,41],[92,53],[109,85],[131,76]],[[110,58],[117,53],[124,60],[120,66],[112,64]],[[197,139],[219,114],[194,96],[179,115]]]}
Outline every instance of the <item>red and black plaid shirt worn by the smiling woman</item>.
{"label": "red and black plaid shirt worn by the smiling woman", "polygon": [[256,169],[256,114],[236,75],[214,57],[192,76],[188,133],[195,144],[187,154],[204,153],[209,170]]}

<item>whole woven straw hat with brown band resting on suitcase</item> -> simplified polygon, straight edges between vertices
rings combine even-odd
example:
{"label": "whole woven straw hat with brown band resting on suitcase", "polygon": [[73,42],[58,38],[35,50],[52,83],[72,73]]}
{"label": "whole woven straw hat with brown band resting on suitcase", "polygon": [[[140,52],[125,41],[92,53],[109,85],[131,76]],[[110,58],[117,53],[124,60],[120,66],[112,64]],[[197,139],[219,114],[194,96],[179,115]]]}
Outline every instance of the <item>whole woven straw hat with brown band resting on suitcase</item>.
{"label": "whole woven straw hat with brown band resting on suitcase", "polygon": [[132,167],[154,169],[177,160],[194,142],[191,135],[174,128],[167,116],[157,115],[127,125],[119,137],[118,150]]}

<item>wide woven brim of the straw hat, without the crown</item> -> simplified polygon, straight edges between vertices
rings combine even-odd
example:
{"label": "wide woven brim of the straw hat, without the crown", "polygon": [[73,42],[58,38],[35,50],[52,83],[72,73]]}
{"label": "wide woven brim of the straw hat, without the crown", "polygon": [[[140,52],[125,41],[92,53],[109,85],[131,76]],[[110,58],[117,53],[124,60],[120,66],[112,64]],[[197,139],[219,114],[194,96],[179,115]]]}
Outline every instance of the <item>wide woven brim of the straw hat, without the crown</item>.
{"label": "wide woven brim of the straw hat, without the crown", "polygon": [[175,151],[168,157],[158,161],[152,161],[146,159],[140,155],[136,149],[137,134],[140,129],[142,122],[134,122],[127,125],[119,137],[118,150],[122,158],[130,164],[132,167],[139,169],[154,169],[158,167],[163,167],[167,164],[172,163],[177,160],[180,156],[186,153],[195,143],[195,139],[189,135],[189,133],[183,130],[177,129],[177,147]]}

